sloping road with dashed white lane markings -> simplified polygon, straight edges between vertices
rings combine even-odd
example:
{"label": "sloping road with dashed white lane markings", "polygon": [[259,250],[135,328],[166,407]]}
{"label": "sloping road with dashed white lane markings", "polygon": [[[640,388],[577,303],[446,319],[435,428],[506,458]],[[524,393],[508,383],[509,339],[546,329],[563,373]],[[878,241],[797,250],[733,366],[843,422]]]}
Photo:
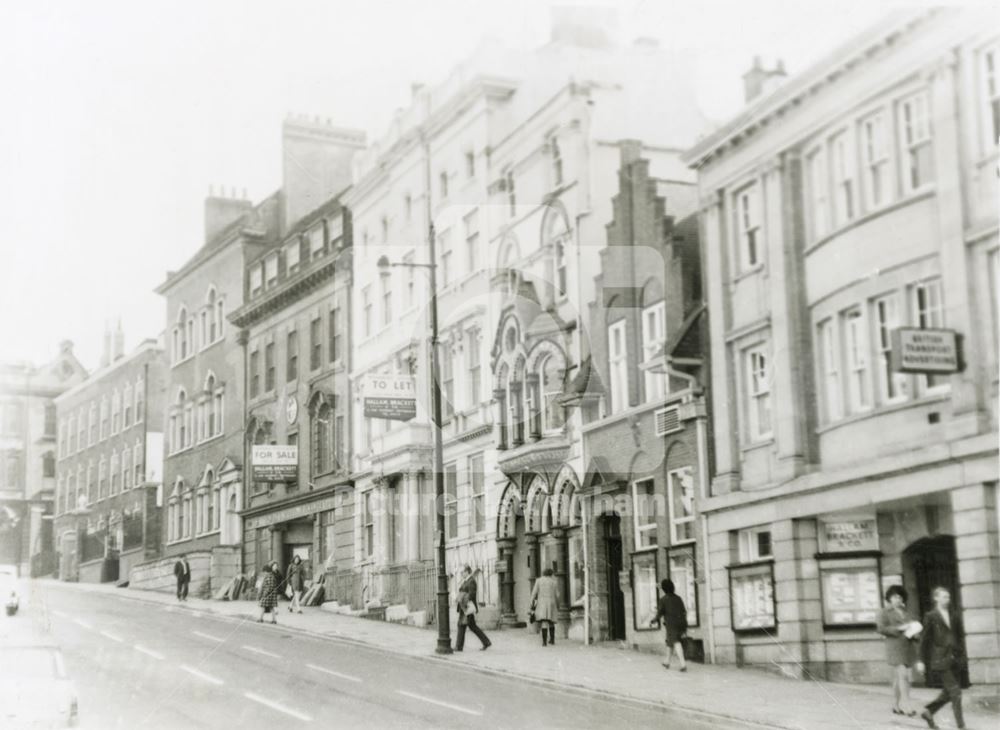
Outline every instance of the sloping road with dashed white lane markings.
{"label": "sloping road with dashed white lane markings", "polygon": [[35,584],[20,621],[45,625],[84,728],[719,728],[615,702],[70,586]]}

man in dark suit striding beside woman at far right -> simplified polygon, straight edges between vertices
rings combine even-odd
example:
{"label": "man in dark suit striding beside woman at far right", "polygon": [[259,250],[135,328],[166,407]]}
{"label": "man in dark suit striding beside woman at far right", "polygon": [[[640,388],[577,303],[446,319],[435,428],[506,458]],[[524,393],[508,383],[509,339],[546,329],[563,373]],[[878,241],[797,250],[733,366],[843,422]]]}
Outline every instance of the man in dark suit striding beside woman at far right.
{"label": "man in dark suit striding beside woman at far right", "polygon": [[962,671],[965,656],[962,651],[962,628],[957,613],[950,610],[951,594],[947,588],[934,589],[934,608],[924,616],[924,632],[920,640],[917,671],[932,672],[941,678],[941,694],[924,708],[920,716],[927,727],[936,728],[934,713],[951,702],[955,724],[965,727],[962,717]]}

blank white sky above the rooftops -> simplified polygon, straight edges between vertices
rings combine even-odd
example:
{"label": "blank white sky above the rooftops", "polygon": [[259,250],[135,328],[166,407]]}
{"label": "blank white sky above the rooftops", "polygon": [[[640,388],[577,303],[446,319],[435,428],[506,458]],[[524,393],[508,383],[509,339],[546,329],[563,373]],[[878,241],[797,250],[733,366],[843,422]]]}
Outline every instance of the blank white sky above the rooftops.
{"label": "blank white sky above the rooftops", "polygon": [[[254,201],[281,182],[288,113],[387,129],[484,35],[544,43],[539,0],[88,0],[0,4],[0,361],[76,343],[97,365],[106,323],[126,349],[164,327],[153,292],[203,243],[210,185]],[[723,120],[755,55],[792,74],[902,2],[590,0],[623,40],[694,57]]]}

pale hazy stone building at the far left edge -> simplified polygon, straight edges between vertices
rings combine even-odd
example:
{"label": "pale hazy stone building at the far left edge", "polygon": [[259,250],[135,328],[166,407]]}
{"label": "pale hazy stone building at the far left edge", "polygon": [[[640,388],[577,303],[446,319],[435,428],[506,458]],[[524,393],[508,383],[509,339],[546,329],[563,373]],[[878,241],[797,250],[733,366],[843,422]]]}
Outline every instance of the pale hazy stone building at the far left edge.
{"label": "pale hazy stone building at the far left edge", "polygon": [[23,576],[55,569],[54,399],[86,377],[68,341],[42,366],[0,363],[0,564],[18,566]]}

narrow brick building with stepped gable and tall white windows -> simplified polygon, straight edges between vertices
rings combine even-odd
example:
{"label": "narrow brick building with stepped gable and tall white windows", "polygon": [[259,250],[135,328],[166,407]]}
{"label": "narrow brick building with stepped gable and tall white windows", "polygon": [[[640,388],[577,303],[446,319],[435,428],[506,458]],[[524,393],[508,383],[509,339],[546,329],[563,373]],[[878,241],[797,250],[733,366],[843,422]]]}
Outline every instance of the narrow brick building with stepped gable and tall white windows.
{"label": "narrow brick building with stepped gable and tall white windows", "polygon": [[577,381],[588,468],[565,589],[581,620],[587,594],[597,640],[659,649],[652,619],[660,581],[670,578],[697,657],[706,621],[696,504],[710,476],[697,196],[693,183],[651,177],[640,151],[637,142],[621,144],[589,313],[592,375],[586,387]]}

